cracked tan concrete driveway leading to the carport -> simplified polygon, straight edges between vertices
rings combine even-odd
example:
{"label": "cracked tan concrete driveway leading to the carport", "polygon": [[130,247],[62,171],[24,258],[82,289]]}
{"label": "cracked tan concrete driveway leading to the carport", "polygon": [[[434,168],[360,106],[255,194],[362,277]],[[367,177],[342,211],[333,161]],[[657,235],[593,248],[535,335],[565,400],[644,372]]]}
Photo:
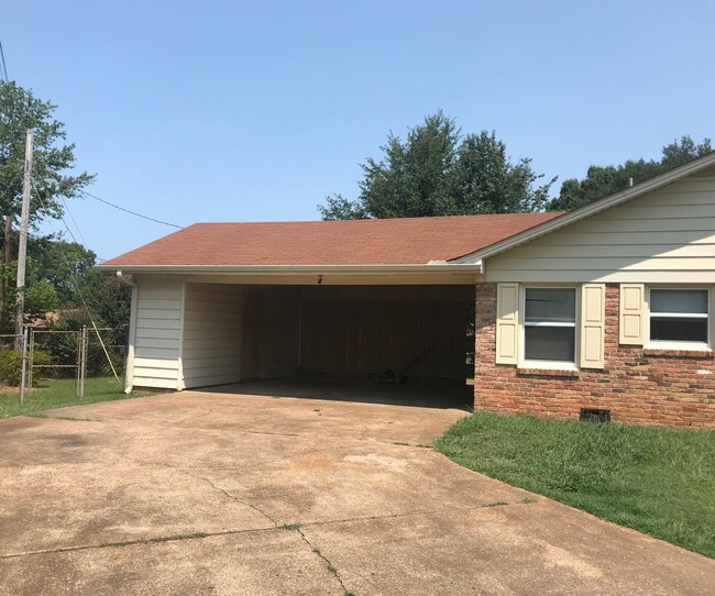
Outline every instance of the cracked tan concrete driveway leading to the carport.
{"label": "cracked tan concrete driveway leading to the carport", "polygon": [[0,593],[715,586],[715,561],[418,446],[463,411],[273,394],[187,391],[0,422]]}

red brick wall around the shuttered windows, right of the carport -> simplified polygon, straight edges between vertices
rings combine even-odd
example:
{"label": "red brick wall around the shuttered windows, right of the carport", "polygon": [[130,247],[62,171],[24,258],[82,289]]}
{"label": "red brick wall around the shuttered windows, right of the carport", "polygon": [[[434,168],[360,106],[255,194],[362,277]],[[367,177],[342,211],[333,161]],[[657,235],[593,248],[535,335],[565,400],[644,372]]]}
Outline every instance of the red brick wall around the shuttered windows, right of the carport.
{"label": "red brick wall around the shuttered windows, right of the carport", "polygon": [[551,374],[495,364],[496,284],[477,285],[474,409],[578,418],[597,408],[614,421],[715,428],[713,356],[619,345],[618,287],[606,287],[604,369]]}

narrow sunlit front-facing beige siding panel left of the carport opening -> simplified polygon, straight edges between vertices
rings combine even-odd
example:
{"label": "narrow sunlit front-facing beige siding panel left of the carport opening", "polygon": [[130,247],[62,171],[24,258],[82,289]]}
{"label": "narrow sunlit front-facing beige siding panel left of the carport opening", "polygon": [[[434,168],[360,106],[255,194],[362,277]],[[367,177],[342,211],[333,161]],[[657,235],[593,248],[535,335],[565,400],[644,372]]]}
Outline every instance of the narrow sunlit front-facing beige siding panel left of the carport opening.
{"label": "narrow sunlit front-facing beige siding panel left of the carport opening", "polygon": [[184,280],[141,276],[136,280],[133,385],[180,387]]}

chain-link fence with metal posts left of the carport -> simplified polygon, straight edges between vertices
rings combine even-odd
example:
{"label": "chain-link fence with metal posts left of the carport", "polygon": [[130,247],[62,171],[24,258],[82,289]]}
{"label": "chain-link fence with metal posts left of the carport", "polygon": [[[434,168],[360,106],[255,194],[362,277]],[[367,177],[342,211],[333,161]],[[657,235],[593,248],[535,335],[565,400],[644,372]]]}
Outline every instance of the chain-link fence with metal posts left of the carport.
{"label": "chain-link fence with metal posts left of the carport", "polygon": [[51,405],[123,389],[127,329],[29,327],[0,335],[0,391]]}

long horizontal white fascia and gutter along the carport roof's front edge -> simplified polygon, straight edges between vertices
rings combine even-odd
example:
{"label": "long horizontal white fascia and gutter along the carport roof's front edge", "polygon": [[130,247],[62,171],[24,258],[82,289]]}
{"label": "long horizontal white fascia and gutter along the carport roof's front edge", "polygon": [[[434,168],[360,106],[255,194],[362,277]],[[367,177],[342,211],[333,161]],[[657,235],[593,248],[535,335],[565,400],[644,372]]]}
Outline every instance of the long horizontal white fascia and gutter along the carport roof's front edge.
{"label": "long horizontal white fascia and gutter along the carport roof's front edge", "polygon": [[425,265],[97,265],[100,271],[120,273],[162,274],[226,274],[226,275],[414,275],[414,274],[481,274],[482,263],[439,263]]}

